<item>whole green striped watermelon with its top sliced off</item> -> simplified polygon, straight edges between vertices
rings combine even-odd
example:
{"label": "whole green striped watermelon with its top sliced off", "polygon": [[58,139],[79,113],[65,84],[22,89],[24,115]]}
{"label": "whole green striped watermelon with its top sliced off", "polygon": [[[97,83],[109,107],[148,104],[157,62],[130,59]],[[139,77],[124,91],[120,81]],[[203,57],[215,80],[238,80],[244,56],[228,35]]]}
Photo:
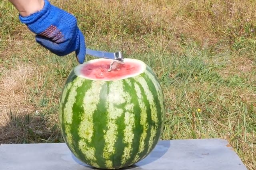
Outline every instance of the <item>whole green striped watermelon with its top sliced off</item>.
{"label": "whole green striped watermelon with its top sliced off", "polygon": [[72,69],[63,87],[59,120],[71,152],[82,162],[118,169],[145,158],[165,119],[160,83],[143,61],[93,59]]}

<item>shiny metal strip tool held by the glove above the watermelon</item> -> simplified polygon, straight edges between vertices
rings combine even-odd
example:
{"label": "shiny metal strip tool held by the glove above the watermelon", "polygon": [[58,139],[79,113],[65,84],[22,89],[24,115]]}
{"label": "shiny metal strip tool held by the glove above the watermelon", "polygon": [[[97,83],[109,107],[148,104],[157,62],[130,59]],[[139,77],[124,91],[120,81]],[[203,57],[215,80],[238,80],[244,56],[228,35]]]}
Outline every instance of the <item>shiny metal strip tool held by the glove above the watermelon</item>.
{"label": "shiny metal strip tool held by the glove above the watermelon", "polygon": [[86,48],[86,54],[92,55],[94,57],[106,58],[106,59],[115,59],[121,62],[124,62],[124,58],[120,51],[115,53],[105,52],[105,51],[96,51]]}

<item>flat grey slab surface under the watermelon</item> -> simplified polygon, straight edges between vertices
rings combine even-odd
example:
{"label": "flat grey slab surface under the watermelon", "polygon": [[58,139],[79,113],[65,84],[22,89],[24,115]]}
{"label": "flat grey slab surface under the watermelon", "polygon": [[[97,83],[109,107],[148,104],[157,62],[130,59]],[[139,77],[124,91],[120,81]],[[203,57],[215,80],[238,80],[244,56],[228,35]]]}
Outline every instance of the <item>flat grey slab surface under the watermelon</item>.
{"label": "flat grey slab surface under the watermelon", "polygon": [[[0,170],[92,170],[65,143],[2,144]],[[246,170],[227,140],[160,140],[130,170]]]}

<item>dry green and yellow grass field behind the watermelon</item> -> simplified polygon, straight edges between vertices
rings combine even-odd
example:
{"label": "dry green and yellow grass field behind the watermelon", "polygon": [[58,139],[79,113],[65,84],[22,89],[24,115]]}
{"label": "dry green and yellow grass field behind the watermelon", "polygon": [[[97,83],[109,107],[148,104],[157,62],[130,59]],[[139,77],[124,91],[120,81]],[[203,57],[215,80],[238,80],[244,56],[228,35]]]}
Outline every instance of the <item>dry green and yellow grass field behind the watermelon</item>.
{"label": "dry green and yellow grass field behind the watermelon", "polygon": [[[166,99],[162,139],[223,138],[256,169],[254,0],[51,2],[76,16],[87,47],[123,46],[152,67]],[[0,143],[62,142],[58,102],[75,55],[38,45],[7,0],[0,11]]]}

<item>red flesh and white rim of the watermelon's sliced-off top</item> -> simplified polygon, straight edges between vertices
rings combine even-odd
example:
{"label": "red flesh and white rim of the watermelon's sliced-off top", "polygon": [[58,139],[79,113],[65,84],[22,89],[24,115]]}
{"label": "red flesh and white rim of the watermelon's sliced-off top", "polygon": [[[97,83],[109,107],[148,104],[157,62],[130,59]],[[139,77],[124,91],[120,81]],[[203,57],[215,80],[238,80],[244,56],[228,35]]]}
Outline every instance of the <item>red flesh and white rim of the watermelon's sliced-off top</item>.
{"label": "red flesh and white rim of the watermelon's sliced-off top", "polygon": [[74,68],[78,77],[90,80],[113,81],[135,77],[144,73],[146,64],[138,59],[124,59],[123,64],[119,64],[117,69],[109,70],[112,59],[93,59]]}

